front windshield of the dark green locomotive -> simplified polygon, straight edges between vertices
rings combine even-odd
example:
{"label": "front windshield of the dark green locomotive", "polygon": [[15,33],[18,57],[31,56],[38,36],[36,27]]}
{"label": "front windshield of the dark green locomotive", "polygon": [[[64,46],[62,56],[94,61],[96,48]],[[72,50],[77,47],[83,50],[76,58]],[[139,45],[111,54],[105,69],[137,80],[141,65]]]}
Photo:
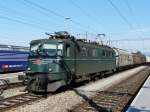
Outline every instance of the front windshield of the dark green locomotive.
{"label": "front windshield of the dark green locomotive", "polygon": [[62,44],[33,44],[30,47],[30,56],[56,56],[62,55]]}

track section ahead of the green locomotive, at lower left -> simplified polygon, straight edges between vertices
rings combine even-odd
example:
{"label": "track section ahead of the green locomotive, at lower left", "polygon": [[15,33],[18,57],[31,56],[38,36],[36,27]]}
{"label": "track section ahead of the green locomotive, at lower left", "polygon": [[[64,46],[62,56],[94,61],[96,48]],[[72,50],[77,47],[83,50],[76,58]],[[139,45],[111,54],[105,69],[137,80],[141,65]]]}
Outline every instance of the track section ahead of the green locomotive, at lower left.
{"label": "track section ahead of the green locomotive, at lower left", "polygon": [[12,108],[27,104],[29,102],[34,102],[43,98],[41,95],[33,95],[30,93],[24,93],[6,99],[0,100],[0,112],[10,110]]}

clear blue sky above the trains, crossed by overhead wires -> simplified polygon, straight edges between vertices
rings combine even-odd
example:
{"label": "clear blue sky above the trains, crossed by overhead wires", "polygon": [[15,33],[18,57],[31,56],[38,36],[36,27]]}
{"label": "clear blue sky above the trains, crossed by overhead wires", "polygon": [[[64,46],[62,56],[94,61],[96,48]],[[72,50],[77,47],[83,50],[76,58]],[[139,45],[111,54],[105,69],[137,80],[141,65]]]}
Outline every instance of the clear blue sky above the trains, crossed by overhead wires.
{"label": "clear blue sky above the trains, crossed by overhead wires", "polygon": [[[73,35],[82,34],[79,38],[85,38],[88,32],[91,40],[99,33],[106,34],[103,40],[149,37],[150,0],[111,1],[126,21],[110,0],[0,0],[0,44],[28,46],[33,39],[46,38],[45,32],[64,30]],[[148,41],[113,44],[128,49],[147,49],[150,48]]]}

